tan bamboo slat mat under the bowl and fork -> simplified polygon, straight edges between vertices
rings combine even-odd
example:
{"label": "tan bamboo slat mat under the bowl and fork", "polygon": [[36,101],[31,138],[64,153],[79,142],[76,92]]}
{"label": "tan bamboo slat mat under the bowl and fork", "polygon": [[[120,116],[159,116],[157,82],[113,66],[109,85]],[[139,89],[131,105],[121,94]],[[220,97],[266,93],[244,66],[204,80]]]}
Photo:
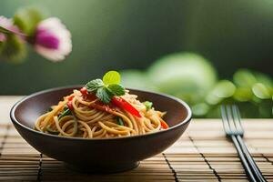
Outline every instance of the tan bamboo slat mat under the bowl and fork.
{"label": "tan bamboo slat mat under the bowl and fork", "polygon": [[[245,141],[268,181],[273,181],[273,120],[244,120]],[[10,124],[0,122],[0,181],[248,181],[220,120],[194,119],[163,154],[131,171],[88,175],[67,169],[30,147]]]}

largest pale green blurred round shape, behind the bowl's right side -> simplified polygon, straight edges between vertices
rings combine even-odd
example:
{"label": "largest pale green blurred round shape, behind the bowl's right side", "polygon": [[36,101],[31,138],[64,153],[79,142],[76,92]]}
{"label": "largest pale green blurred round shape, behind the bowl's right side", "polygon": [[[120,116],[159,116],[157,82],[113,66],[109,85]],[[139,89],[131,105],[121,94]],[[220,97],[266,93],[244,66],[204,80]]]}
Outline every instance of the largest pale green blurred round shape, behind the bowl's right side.
{"label": "largest pale green blurred round shape, behind the bowl's right side", "polygon": [[[148,85],[173,96],[205,97],[216,84],[216,70],[207,59],[193,53],[175,53],[158,59],[148,69]],[[200,99],[197,99],[197,103]],[[196,102],[195,102],[196,104]]]}

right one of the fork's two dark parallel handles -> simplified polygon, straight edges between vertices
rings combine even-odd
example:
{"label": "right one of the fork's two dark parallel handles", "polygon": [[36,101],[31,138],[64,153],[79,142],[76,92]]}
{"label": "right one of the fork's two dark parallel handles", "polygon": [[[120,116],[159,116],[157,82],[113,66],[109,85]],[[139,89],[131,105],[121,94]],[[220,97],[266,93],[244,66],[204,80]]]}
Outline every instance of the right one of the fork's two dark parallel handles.
{"label": "right one of the fork's two dark parallel handles", "polygon": [[238,143],[242,148],[242,151],[245,155],[245,157],[248,160],[248,164],[252,169],[252,172],[254,173],[254,175],[258,178],[258,181],[261,182],[266,182],[267,179],[262,175],[262,173],[260,172],[256,162],[254,161],[253,157],[251,157],[251,154],[248,151],[248,147],[246,146],[245,142],[243,141],[241,136],[236,136],[238,139]]}

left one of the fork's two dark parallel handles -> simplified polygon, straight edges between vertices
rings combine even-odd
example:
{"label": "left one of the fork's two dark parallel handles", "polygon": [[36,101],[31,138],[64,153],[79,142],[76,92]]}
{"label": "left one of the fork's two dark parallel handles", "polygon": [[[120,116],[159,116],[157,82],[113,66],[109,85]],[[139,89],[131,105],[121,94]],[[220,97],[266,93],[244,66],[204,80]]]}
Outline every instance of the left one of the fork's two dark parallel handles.
{"label": "left one of the fork's two dark parallel handles", "polygon": [[248,179],[249,181],[252,181],[252,182],[256,182],[256,178],[254,177],[250,167],[248,166],[248,161],[246,160],[245,156],[244,156],[244,153],[238,143],[238,139],[236,136],[231,136],[231,139],[233,141],[233,144],[234,146],[236,147],[237,149],[237,152],[238,152],[238,156],[240,157],[240,160],[241,160],[241,163],[243,164],[243,167],[247,173],[247,176],[248,176]]}

